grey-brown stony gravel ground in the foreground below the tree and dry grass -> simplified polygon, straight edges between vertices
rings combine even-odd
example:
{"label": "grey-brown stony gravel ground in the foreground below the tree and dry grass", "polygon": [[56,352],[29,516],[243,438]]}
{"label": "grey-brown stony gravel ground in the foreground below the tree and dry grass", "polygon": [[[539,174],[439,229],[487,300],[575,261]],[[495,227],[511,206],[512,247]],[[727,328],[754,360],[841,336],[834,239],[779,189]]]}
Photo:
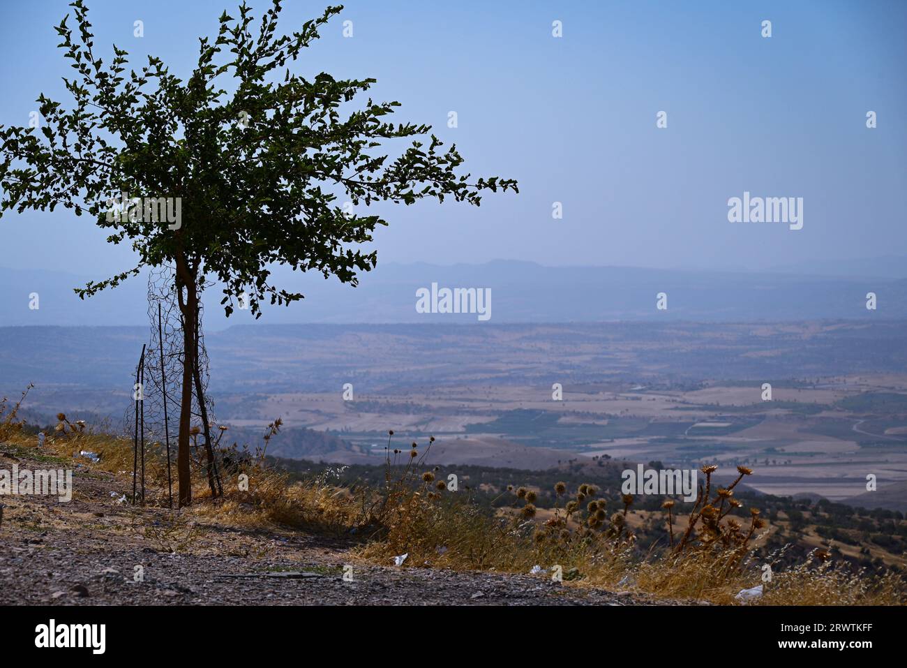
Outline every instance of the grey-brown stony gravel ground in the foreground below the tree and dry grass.
{"label": "grey-brown stony gravel ground in the foreground below the tree and dry grass", "polygon": [[[0,469],[46,468],[0,444]],[[61,465],[62,466],[62,465]],[[73,467],[73,500],[0,496],[0,604],[665,604],[546,575],[373,565],[347,538],[224,526],[120,499],[122,479]],[[344,578],[351,568],[352,582]]]}

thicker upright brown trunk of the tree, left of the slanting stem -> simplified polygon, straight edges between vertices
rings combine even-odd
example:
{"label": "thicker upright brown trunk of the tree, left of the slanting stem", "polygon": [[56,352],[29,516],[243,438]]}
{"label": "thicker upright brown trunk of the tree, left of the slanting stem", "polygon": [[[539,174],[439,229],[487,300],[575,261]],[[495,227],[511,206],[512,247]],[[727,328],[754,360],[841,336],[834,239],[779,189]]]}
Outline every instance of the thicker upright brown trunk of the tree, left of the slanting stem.
{"label": "thicker upright brown trunk of the tree, left of the slanting stem", "polygon": [[199,294],[195,271],[190,268],[181,253],[178,253],[176,258],[176,289],[182,314],[182,388],[180,435],[177,437],[176,455],[179,505],[182,507],[192,503],[189,431],[192,422],[192,369],[195,366],[195,319],[199,312]]}

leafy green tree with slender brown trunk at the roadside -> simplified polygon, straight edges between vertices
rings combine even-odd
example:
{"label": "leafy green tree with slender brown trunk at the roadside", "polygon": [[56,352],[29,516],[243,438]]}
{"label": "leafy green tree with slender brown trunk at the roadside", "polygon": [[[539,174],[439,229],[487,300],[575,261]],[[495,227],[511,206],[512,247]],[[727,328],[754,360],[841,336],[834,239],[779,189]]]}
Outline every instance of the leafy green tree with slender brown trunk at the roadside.
{"label": "leafy green tree with slender brown trunk at the roadside", "polygon": [[343,7],[278,36],[280,5],[273,0],[258,28],[245,4],[239,19],[224,12],[213,43],[200,38],[198,64],[183,82],[151,56],[126,74],[128,54],[116,45],[105,67],[93,51],[88,10],[76,0],[77,38],[69,15],[56,27],[78,74],[63,78],[73,108],[42,94],[40,128],[0,125],[0,214],[62,205],[76,216],[88,213],[111,231],[107,241],[129,240],[138,253],[131,270],[76,289],[80,298],[143,267],[174,270],[182,320],[180,506],[191,502],[191,398],[206,277],[224,286],[220,303],[228,316],[235,300],[248,300],[258,318],[262,300],[303,299],[271,280],[274,263],[353,286],[357,272],[375,267],[376,251],[362,244],[387,221],[345,209],[341,196],[366,207],[445,198],[478,206],[483,191],[518,192],[513,180],[458,173],[456,146],[443,150],[434,134],[413,139],[392,159],[385,140],[424,139],[431,126],[385,120],[396,102],[369,98],[347,112],[374,79],[292,74],[288,62]]}

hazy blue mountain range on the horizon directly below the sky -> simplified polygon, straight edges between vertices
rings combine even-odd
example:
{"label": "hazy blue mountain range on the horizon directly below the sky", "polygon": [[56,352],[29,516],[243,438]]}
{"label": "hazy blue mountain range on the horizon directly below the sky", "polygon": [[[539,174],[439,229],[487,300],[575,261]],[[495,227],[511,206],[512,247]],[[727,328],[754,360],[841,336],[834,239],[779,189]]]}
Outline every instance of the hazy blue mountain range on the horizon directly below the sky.
{"label": "hazy blue mountain range on the horizon directly below the sky", "polygon": [[[834,275],[829,272],[837,269]],[[786,271],[786,272],[785,272]],[[406,323],[476,322],[475,313],[421,313],[416,291],[444,288],[491,290],[491,322],[595,322],[683,319],[751,321],[803,319],[902,319],[907,317],[907,258],[805,264],[772,272],[657,270],[632,267],[544,267],[533,262],[381,265],[351,288],[320,275],[277,270],[281,287],[306,299],[288,308],[267,307],[258,322]],[[0,269],[0,325],[143,325],[144,278],[127,280],[89,300],[74,287],[102,276],[55,270]],[[668,309],[656,308],[658,293]],[[875,292],[878,309],[865,308]],[[32,295],[38,309],[30,309]],[[209,292],[206,327],[253,322],[248,311],[223,316],[217,286]],[[443,307],[442,307],[443,309]]]}

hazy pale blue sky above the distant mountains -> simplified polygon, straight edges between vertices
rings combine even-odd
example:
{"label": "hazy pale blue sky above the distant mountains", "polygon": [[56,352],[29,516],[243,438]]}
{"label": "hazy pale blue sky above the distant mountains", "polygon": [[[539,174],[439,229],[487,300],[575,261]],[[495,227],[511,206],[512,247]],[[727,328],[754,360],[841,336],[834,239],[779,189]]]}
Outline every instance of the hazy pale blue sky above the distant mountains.
{"label": "hazy pale blue sky above the distant mountains", "polygon": [[[216,34],[221,10],[236,7],[86,4],[105,62],[115,42],[133,64],[156,54],[180,76],[197,37]],[[283,29],[324,6],[288,0]],[[0,123],[27,123],[42,92],[71,103],[60,77],[73,71],[53,28],[67,11],[63,0],[0,3]],[[347,19],[352,38],[342,36]],[[433,123],[473,174],[520,182],[519,195],[490,194],[480,209],[395,208],[376,233],[379,263],[757,270],[907,249],[905,27],[904,2],[351,0],[292,66],[375,77],[375,99],[403,103],[396,120]],[[667,129],[656,127],[659,111]],[[728,198],[744,191],[804,198],[804,228],[728,222]],[[554,201],[563,220],[551,218]],[[130,251],[104,236],[69,211],[6,214],[0,265],[98,279],[132,267]]]}

